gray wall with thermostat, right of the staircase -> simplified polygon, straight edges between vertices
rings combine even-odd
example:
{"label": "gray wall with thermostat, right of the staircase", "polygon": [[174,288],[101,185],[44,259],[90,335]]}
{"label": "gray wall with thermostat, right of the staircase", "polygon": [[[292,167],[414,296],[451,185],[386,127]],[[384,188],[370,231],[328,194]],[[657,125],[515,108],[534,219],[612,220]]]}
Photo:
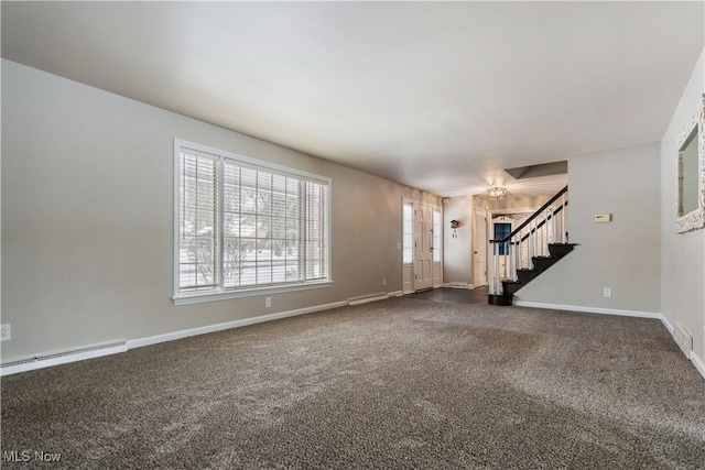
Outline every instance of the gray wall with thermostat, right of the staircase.
{"label": "gray wall with thermostat, right of the staircase", "polygon": [[[517,300],[661,311],[659,157],[652,144],[568,160],[570,239],[579,245]],[[612,222],[595,223],[604,212]]]}

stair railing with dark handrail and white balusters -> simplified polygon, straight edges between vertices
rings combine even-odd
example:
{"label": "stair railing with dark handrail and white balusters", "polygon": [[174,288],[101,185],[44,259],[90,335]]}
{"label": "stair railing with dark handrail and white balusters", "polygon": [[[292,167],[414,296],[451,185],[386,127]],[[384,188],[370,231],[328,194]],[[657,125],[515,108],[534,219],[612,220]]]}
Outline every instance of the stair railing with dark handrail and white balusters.
{"label": "stair railing with dark handrail and white balusters", "polygon": [[568,187],[565,186],[501,240],[489,241],[490,295],[503,295],[502,281],[517,281],[517,270],[532,270],[534,256],[547,256],[550,243],[568,242]]}

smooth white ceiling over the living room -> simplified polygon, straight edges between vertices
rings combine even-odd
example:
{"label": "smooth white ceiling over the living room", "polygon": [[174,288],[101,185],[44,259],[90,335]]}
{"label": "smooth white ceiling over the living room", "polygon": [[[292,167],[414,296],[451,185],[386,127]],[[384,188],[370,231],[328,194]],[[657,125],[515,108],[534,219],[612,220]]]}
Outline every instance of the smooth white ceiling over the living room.
{"label": "smooth white ceiling over the living room", "polygon": [[4,58],[441,196],[658,142],[705,37],[703,2],[1,8]]}

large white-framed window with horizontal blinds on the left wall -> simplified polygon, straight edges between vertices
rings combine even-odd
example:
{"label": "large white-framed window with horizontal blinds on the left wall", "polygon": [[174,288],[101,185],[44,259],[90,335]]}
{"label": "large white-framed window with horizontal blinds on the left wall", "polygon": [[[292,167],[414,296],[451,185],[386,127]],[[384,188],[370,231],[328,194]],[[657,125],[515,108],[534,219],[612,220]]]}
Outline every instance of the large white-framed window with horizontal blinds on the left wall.
{"label": "large white-framed window with horizontal blinds on the left wall", "polygon": [[329,285],[329,179],[174,147],[176,304]]}

